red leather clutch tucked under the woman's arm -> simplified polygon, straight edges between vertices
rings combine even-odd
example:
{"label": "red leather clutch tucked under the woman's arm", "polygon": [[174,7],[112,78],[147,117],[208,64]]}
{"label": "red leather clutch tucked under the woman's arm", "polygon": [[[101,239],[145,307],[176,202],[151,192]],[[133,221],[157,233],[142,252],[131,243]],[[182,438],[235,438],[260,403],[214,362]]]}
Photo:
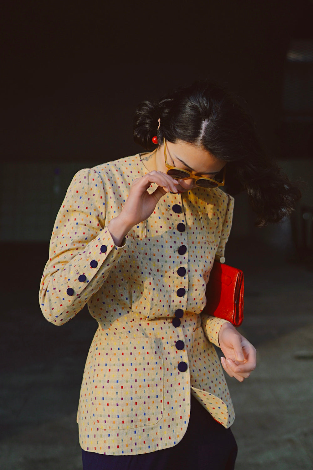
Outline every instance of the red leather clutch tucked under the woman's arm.
{"label": "red leather clutch tucked under the woman's arm", "polygon": [[239,326],[244,319],[244,273],[214,262],[206,285],[205,312]]}

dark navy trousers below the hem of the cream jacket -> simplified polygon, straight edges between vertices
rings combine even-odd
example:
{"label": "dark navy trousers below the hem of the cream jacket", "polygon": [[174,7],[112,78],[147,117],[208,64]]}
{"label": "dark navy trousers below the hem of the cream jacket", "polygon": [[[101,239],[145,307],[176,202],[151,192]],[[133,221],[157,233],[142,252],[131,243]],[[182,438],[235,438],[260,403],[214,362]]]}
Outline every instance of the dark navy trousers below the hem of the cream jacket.
{"label": "dark navy trousers below the hem of the cream jacket", "polygon": [[174,447],[137,455],[83,454],[84,470],[233,470],[237,444],[233,433],[217,423],[191,396],[186,434]]}

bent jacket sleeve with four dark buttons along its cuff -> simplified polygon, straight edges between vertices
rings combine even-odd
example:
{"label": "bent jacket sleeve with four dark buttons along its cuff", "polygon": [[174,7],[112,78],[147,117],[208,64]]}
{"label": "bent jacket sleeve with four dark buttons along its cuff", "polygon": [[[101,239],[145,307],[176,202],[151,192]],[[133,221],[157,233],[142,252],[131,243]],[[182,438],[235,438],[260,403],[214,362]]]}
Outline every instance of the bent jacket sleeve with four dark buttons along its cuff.
{"label": "bent jacket sleeve with four dark buttons along its cuff", "polygon": [[84,307],[123,251],[107,229],[106,204],[99,174],[77,172],[55,220],[39,291],[42,313],[56,325]]}

